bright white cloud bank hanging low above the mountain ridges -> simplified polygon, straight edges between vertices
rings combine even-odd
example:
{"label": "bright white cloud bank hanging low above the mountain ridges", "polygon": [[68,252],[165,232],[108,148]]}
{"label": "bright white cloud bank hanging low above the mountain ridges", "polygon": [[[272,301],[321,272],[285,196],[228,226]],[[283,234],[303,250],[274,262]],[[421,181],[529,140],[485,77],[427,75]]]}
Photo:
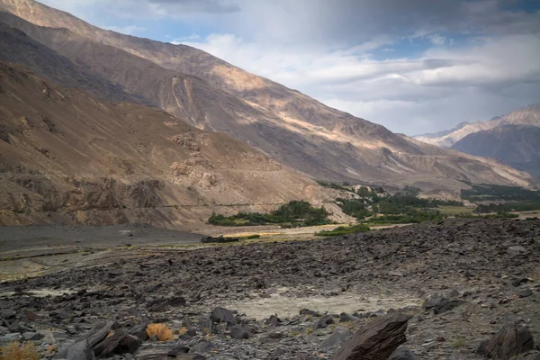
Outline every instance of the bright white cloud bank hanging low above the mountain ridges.
{"label": "bright white cloud bank hanging low above the mountain ridges", "polygon": [[416,58],[386,60],[371,51],[391,40],[339,50],[232,34],[184,43],[408,134],[490,119],[540,100],[540,38],[533,35],[477,39],[461,49],[437,45]]}

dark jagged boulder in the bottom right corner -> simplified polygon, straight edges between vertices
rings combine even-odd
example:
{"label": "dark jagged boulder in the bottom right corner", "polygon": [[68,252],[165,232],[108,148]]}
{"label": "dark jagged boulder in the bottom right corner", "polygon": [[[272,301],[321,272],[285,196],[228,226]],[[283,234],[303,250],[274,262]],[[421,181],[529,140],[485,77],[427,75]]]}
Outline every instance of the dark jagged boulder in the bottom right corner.
{"label": "dark jagged boulder in the bottom right corner", "polygon": [[476,349],[476,354],[506,360],[532,350],[534,346],[535,341],[530,330],[515,322],[505,325],[491,339],[482,342]]}

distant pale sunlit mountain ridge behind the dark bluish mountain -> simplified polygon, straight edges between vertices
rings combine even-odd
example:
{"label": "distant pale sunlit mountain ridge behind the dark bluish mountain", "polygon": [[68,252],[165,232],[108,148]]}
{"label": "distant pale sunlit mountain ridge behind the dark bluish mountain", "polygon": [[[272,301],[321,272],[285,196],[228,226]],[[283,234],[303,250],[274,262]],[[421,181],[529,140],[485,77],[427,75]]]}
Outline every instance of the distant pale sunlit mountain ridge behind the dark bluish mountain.
{"label": "distant pale sunlit mountain ridge behind the dark bluish mountain", "polygon": [[[464,126],[460,126],[463,125]],[[451,148],[457,141],[464,139],[469,134],[482,130],[491,130],[504,125],[532,125],[540,126],[540,104],[533,104],[507,115],[498,116],[490,121],[478,121],[473,123],[462,122],[453,130],[446,130],[434,134],[415,136],[415,139],[442,148]]]}

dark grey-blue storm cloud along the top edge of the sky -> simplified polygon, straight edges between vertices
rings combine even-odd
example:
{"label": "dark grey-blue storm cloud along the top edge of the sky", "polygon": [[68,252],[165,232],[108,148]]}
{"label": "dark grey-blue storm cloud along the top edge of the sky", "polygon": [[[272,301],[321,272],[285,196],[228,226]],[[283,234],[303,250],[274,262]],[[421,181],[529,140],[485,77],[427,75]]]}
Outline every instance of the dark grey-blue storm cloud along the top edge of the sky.
{"label": "dark grey-blue storm cloud along the top edge of the sky", "polygon": [[528,11],[523,3],[518,0],[244,0],[242,8],[246,16],[233,26],[244,26],[249,32],[258,24],[255,32],[268,31],[275,38],[347,43],[380,34],[539,32],[540,2],[530,5]]}

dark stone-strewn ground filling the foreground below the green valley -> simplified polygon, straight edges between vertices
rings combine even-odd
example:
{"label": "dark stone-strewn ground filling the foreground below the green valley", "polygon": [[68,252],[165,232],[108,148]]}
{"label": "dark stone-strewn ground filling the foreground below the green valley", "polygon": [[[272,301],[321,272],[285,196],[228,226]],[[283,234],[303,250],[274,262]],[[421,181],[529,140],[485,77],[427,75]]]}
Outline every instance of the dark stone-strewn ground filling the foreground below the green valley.
{"label": "dark stone-strewn ground filling the foreground below the green valley", "polygon": [[[404,331],[412,353],[392,359],[537,359],[538,264],[538,220],[118,249],[101,264],[0,284],[0,341],[55,358],[384,359]],[[166,324],[170,339],[148,338],[149,323]]]}

